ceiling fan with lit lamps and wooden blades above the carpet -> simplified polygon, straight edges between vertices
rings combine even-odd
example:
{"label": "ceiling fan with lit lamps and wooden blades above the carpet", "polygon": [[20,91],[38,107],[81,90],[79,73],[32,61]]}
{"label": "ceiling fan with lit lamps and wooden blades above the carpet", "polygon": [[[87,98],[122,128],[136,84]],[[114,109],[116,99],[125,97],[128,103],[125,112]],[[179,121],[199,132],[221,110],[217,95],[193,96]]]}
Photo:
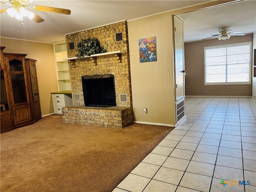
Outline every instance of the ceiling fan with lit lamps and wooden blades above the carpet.
{"label": "ceiling fan with lit lamps and wooden blades above the carpet", "polygon": [[9,3],[0,2],[1,4],[7,4],[10,6],[13,6],[12,8],[0,10],[0,13],[7,12],[9,16],[22,21],[23,25],[24,25],[23,17],[28,17],[30,20],[32,19],[37,23],[44,21],[44,19],[41,18],[38,14],[34,13],[31,10],[28,10],[27,8],[34,9],[37,11],[53,12],[53,13],[60,13],[60,14],[66,14],[66,15],[70,15],[71,13],[71,11],[68,9],[41,6],[41,5],[30,6],[30,4],[33,1],[34,0],[9,0]]}

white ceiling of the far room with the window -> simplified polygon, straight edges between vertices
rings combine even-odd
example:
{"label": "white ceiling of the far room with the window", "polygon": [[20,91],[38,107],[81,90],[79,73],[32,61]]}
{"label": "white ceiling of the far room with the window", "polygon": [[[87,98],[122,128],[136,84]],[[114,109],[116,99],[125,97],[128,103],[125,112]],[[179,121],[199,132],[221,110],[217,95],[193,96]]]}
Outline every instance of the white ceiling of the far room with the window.
{"label": "white ceiling of the far room with the window", "polygon": [[184,19],[185,42],[202,40],[219,34],[218,28],[221,27],[230,27],[232,32],[244,31],[246,34],[251,34],[256,31],[256,0],[190,12],[180,17]]}

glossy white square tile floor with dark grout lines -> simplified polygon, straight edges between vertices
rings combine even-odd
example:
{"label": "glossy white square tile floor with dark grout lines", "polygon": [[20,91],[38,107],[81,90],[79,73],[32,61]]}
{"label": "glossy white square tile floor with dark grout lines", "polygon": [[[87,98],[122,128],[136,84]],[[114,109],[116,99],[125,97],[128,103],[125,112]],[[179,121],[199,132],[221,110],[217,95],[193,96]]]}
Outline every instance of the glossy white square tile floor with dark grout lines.
{"label": "glossy white square tile floor with dark grout lines", "polygon": [[113,192],[255,192],[255,116],[251,98],[186,98],[186,118]]}

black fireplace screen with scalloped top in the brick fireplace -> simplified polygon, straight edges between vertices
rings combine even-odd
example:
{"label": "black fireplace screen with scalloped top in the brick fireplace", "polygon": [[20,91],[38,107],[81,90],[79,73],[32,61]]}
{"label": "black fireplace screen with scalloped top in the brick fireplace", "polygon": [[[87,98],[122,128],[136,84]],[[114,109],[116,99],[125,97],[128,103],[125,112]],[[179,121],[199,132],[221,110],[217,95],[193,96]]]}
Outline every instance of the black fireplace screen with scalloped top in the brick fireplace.
{"label": "black fireplace screen with scalloped top in the brick fireplace", "polygon": [[82,76],[84,104],[90,107],[116,106],[114,75]]}

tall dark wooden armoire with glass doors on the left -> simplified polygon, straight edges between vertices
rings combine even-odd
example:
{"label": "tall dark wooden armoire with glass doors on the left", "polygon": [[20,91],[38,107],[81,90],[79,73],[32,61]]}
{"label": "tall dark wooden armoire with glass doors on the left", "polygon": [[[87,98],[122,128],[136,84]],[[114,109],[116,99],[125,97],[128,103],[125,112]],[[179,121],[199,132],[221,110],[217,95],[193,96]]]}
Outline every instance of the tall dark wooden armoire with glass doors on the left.
{"label": "tall dark wooden armoire with glass doors on the left", "polygon": [[26,59],[27,54],[0,51],[1,133],[33,124],[41,116],[36,60]]}

